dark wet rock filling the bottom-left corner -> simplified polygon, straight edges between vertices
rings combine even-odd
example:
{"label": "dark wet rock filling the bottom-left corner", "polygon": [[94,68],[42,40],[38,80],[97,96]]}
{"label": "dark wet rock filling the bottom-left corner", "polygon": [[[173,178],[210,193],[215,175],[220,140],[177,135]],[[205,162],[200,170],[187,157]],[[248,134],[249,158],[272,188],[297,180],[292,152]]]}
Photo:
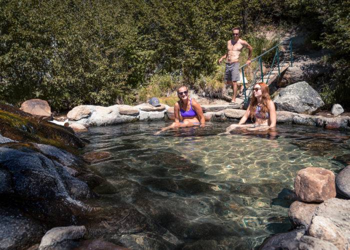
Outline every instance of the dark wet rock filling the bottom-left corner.
{"label": "dark wet rock filling the bottom-left corner", "polygon": [[0,208],[0,249],[25,249],[40,240],[44,228],[17,209]]}

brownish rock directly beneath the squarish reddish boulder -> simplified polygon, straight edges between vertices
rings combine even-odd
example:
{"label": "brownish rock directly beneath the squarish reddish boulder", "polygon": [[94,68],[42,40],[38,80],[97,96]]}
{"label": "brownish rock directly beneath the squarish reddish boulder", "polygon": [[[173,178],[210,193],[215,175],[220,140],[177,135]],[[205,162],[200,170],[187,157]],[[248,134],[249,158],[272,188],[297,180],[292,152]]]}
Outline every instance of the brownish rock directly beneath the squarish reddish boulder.
{"label": "brownish rock directly beneath the squarish reddish boulder", "polygon": [[288,216],[294,226],[307,228],[311,223],[313,213],[318,203],[305,203],[298,200],[291,203],[288,210]]}

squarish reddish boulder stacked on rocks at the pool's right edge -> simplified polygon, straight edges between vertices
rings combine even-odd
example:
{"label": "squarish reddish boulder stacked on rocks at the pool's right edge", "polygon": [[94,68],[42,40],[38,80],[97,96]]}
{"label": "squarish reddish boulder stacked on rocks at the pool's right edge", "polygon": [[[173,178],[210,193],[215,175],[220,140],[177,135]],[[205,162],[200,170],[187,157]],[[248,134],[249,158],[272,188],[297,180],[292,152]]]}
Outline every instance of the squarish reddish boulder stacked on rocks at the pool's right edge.
{"label": "squarish reddish boulder stacked on rocks at the pool's right edge", "polygon": [[298,171],[294,189],[299,200],[323,202],[336,195],[334,173],[320,167],[306,167]]}

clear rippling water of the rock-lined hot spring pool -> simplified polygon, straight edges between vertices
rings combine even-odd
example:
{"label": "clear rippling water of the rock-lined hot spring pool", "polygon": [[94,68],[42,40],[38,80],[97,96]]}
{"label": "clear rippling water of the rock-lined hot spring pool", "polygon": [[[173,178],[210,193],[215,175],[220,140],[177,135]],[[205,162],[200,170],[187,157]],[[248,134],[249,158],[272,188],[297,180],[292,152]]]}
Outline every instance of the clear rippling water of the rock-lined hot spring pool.
{"label": "clear rippling water of the rock-lined hot spring pool", "polygon": [[113,187],[87,201],[100,216],[90,235],[134,248],[254,248],[290,229],[299,169],[338,172],[350,162],[350,132],[278,124],[277,135],[218,135],[230,123],[209,122],[153,135],[168,123],[90,127],[83,135],[91,141],[84,150],[112,153],[90,166]]}

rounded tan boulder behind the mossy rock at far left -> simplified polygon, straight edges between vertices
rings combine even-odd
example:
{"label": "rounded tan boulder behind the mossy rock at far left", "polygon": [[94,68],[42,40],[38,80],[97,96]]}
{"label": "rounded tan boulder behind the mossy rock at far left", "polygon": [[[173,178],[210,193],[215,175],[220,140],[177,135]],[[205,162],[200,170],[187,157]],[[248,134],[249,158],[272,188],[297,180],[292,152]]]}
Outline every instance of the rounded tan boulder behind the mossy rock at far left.
{"label": "rounded tan boulder behind the mossy rock at far left", "polygon": [[41,99],[26,100],[20,105],[20,110],[32,114],[38,119],[51,117],[51,107],[47,101]]}

